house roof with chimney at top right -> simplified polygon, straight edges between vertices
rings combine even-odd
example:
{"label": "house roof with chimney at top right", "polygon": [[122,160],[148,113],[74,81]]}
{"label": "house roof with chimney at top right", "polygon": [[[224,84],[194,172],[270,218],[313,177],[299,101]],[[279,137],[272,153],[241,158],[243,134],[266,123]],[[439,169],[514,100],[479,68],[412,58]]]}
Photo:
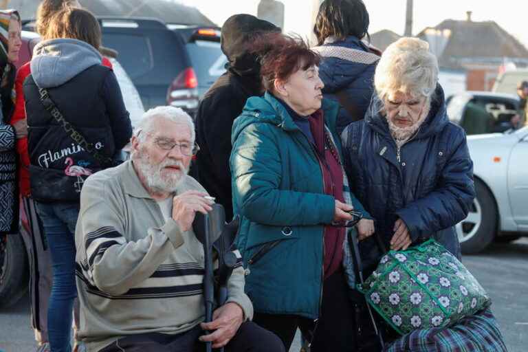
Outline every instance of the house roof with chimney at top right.
{"label": "house roof with chimney at top right", "polygon": [[526,47],[494,21],[448,19],[436,27],[424,29],[417,37],[433,45],[432,52],[436,51],[441,67],[502,65],[505,59],[528,65]]}

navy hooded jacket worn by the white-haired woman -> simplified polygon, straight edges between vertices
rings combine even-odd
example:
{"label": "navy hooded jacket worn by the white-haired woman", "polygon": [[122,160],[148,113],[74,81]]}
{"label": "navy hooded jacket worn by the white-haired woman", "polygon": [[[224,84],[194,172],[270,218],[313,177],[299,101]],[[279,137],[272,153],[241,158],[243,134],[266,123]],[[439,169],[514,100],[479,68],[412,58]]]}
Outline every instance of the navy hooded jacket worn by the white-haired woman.
{"label": "navy hooded jacket worn by the white-haired woman", "polygon": [[[388,248],[398,218],[414,243],[434,238],[460,257],[454,225],[467,216],[475,197],[473,162],[465,133],[448,120],[438,85],[430,113],[417,134],[399,149],[374,96],[362,121],[342,133],[351,189],[375,219]],[[381,255],[373,237],[360,243],[366,265]]]}

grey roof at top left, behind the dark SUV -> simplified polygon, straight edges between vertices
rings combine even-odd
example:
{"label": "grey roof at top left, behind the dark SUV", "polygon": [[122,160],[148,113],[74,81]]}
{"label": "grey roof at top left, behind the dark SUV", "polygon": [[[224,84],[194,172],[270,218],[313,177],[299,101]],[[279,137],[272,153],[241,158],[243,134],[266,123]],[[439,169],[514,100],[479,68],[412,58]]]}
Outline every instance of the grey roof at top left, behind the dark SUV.
{"label": "grey roof at top left, behind the dark SUV", "polygon": [[[196,8],[167,0],[78,0],[96,16],[153,17],[165,23],[214,25]],[[22,19],[34,19],[41,0],[11,0]]]}

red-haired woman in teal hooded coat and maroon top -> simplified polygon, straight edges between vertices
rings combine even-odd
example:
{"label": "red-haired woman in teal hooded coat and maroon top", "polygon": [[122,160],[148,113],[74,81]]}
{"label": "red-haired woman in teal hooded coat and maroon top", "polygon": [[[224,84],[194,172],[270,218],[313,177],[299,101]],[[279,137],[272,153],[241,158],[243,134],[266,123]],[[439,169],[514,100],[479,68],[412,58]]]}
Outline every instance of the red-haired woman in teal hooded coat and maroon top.
{"label": "red-haired woman in teal hooded coat and maroon top", "polygon": [[[273,43],[261,61],[266,93],[249,98],[234,121],[230,157],[254,321],[287,349],[299,327],[312,351],[349,351],[355,323],[344,225],[350,210],[364,210],[342,168],[339,107],[322,98],[320,57],[302,41],[281,34],[262,41]],[[373,231],[372,220],[358,224],[360,239]]]}

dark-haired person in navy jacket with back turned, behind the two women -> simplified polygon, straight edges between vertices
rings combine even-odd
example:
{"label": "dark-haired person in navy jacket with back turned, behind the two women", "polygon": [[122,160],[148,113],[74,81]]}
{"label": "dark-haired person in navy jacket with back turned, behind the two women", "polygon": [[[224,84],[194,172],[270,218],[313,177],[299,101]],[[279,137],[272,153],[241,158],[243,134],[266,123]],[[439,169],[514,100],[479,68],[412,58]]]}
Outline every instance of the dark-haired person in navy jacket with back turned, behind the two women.
{"label": "dark-haired person in navy jacket with back turned, behind the two women", "polygon": [[373,77],[380,51],[366,44],[369,12],[362,0],[325,0],[314,26],[322,61],[319,74],[325,98],[343,107],[338,133],[353,121],[362,120],[374,91]]}

